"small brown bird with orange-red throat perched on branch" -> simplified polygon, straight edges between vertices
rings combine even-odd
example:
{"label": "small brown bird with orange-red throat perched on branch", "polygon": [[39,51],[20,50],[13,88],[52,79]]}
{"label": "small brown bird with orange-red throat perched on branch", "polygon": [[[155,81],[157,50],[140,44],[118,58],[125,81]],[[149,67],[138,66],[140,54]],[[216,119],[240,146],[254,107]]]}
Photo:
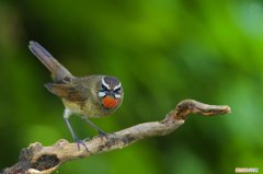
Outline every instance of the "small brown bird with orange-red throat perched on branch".
{"label": "small brown bird with orange-red throat perched on branch", "polygon": [[70,123],[69,117],[76,114],[82,117],[100,136],[106,134],[95,126],[89,118],[100,118],[113,114],[123,102],[123,88],[117,78],[110,76],[75,77],[61,63],[59,63],[43,46],[31,40],[30,50],[52,72],[53,83],[45,88],[59,96],[65,105],[64,118],[71,136],[80,149],[82,144]]}

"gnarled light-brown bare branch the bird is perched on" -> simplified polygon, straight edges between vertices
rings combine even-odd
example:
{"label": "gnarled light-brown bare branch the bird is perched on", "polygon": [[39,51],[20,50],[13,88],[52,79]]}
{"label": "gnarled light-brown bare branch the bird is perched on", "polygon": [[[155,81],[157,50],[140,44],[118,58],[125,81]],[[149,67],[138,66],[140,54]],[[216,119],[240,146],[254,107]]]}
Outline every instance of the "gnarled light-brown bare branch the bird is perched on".
{"label": "gnarled light-brown bare branch the bird is perched on", "polygon": [[49,147],[43,147],[39,142],[35,142],[30,144],[28,148],[22,149],[19,162],[3,170],[2,173],[49,174],[62,163],[71,160],[122,149],[148,137],[169,135],[183,125],[191,113],[215,116],[230,113],[230,107],[207,105],[193,100],[185,100],[180,102],[175,109],[171,111],[161,121],[139,124],[110,134],[107,137],[94,137],[85,142],[87,147],[89,147],[89,152],[83,147],[78,150],[76,143],[69,143],[67,140],[58,140]]}

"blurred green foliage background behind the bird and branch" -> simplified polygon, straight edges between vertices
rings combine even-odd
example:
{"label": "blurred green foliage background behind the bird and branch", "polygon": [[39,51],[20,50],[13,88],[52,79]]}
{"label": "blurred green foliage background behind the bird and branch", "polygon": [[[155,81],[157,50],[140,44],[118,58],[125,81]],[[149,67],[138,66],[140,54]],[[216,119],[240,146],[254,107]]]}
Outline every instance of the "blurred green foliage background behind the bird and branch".
{"label": "blurred green foliage background behind the bird and branch", "polygon": [[[263,3],[256,0],[1,0],[0,169],[31,142],[72,138],[64,106],[28,51],[37,40],[73,74],[112,74],[122,107],[93,119],[107,132],[161,120],[178,102],[228,104],[167,137],[62,165],[59,173],[211,174],[263,171]],[[79,137],[95,132],[78,117]]]}

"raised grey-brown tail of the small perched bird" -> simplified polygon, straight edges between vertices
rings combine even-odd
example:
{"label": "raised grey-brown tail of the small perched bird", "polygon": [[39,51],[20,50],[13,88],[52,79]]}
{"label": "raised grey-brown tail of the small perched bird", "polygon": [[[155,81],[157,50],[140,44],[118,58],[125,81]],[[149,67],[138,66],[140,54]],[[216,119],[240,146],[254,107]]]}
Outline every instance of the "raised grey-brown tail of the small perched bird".
{"label": "raised grey-brown tail of the small perched bird", "polygon": [[30,42],[30,50],[41,60],[41,62],[52,72],[53,80],[61,82],[65,78],[72,78],[72,74],[58,62],[41,44]]}

